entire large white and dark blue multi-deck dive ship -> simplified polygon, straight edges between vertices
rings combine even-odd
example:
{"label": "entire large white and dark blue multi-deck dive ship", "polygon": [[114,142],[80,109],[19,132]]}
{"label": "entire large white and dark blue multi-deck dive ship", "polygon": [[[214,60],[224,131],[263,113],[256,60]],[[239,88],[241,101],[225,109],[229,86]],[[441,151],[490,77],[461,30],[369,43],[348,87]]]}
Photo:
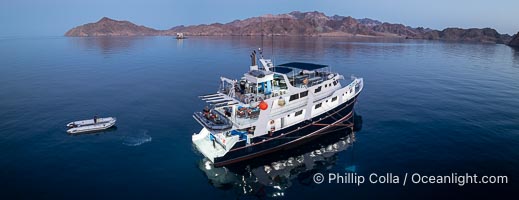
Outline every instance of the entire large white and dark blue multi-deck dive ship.
{"label": "entire large white and dark blue multi-deck dive ship", "polygon": [[251,54],[250,70],[242,78],[221,77],[216,93],[200,96],[208,106],[193,115],[203,128],[192,141],[216,167],[353,128],[362,78],[352,76],[346,81],[320,64],[275,66],[261,50],[259,54],[259,59],[256,51]]}

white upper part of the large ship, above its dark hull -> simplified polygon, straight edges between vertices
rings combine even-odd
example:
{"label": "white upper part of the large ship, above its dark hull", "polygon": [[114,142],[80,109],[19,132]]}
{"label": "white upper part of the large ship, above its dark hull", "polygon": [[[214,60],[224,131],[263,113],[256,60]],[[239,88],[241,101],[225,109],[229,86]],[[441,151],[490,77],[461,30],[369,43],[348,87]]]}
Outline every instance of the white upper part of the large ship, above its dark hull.
{"label": "white upper part of the large ship, above its dark hull", "polygon": [[[274,66],[261,55],[257,59],[255,51],[251,63],[240,79],[221,77],[218,92],[200,96],[209,106],[195,113],[204,128],[192,140],[212,162],[243,145],[281,137],[284,129],[344,105],[363,88],[363,79],[353,76],[343,86],[344,77],[326,65],[292,62]],[[238,143],[243,144],[236,147]]]}

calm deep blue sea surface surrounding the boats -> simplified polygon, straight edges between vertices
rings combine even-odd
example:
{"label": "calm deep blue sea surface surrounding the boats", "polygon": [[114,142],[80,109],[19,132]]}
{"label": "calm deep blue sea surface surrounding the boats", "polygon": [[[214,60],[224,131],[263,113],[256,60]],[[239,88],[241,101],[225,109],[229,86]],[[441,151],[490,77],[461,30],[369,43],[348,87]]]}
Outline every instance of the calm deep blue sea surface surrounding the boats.
{"label": "calm deep blue sea surface surrounding the boats", "polygon": [[[204,106],[197,96],[215,92],[220,76],[245,73],[249,53],[262,46],[276,64],[316,62],[346,78],[363,77],[356,105],[362,129],[352,145],[315,166],[258,181],[251,174],[272,166],[265,163],[218,169],[231,178],[211,179],[191,144],[201,129],[191,115]],[[117,128],[66,134],[67,122],[95,114],[117,117]],[[506,175],[509,183],[312,182],[317,172],[348,171]],[[0,199],[499,198],[512,195],[518,183],[519,51],[505,45],[0,38]]]}

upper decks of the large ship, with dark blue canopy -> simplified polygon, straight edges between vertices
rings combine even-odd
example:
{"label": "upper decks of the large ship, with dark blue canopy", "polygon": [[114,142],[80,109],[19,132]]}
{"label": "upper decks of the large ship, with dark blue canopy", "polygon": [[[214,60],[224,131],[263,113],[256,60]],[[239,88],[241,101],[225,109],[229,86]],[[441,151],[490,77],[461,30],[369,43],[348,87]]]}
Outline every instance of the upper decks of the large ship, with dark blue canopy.
{"label": "upper decks of the large ship, with dark blue canopy", "polygon": [[331,86],[328,81],[334,79],[335,86],[340,79],[327,65],[290,62],[275,66],[269,59],[256,60],[255,53],[251,54],[251,61],[250,70],[240,79],[221,77],[221,87],[217,94],[201,96],[212,108],[225,113],[235,125],[252,124],[256,121],[261,101],[282,96],[287,102],[292,101],[285,94],[293,96],[293,93],[304,93],[308,91],[307,88],[314,86],[315,91],[320,91],[321,87],[318,85],[322,84],[322,88],[326,88],[325,84]]}

